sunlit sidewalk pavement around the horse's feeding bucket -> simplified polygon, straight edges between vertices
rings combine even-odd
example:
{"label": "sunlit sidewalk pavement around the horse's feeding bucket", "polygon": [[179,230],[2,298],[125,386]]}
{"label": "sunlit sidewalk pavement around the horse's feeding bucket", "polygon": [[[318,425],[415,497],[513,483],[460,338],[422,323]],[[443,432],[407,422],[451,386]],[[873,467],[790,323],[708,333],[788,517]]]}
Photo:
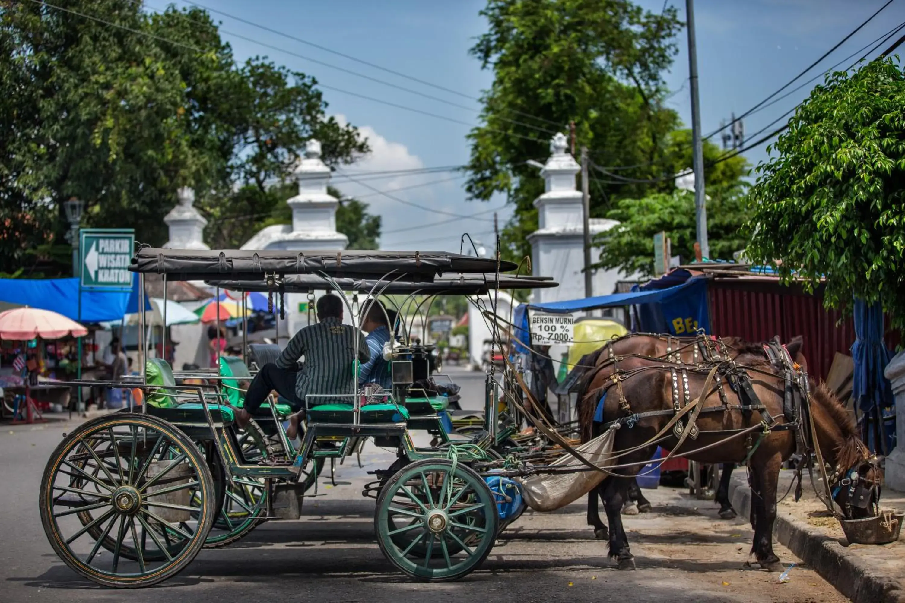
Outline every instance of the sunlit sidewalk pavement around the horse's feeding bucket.
{"label": "sunlit sidewalk pavement around the horse's feeding bucket", "polygon": [[[786,494],[794,472],[779,476],[779,497]],[[849,544],[842,526],[814,495],[807,473],[802,498],[795,503],[795,488],[777,505],[773,536],[817,570],[854,603],[905,603],[905,530],[889,544]],[[814,476],[814,484],[821,483]],[[741,517],[750,515],[751,491],[738,471],[729,485],[729,499]],[[905,509],[905,493],[883,488],[881,508]],[[790,572],[795,579],[795,569]]]}

